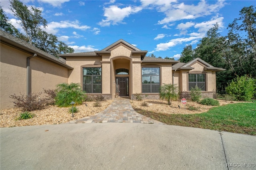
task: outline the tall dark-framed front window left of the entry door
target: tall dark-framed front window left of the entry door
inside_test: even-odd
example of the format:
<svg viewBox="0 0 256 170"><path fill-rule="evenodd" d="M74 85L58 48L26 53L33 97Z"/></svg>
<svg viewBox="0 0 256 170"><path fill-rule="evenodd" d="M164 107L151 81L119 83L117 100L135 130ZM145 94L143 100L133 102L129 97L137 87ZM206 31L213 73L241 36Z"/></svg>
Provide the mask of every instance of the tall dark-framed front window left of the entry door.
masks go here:
<svg viewBox="0 0 256 170"><path fill-rule="evenodd" d="M101 93L101 67L83 68L83 91Z"/></svg>

